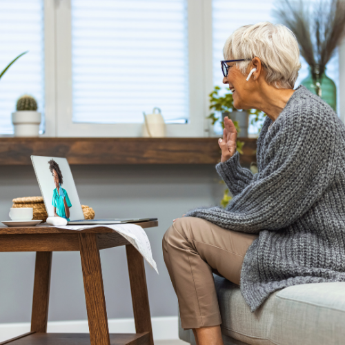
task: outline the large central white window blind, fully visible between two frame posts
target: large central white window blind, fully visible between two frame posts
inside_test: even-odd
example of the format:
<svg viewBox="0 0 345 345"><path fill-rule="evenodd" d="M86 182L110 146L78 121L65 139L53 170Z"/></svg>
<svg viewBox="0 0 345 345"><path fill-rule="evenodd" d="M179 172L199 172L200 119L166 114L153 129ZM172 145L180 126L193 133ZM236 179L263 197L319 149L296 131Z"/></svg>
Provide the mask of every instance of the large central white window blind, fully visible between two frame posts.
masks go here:
<svg viewBox="0 0 345 345"><path fill-rule="evenodd" d="M188 121L186 0L72 0L72 119Z"/></svg>

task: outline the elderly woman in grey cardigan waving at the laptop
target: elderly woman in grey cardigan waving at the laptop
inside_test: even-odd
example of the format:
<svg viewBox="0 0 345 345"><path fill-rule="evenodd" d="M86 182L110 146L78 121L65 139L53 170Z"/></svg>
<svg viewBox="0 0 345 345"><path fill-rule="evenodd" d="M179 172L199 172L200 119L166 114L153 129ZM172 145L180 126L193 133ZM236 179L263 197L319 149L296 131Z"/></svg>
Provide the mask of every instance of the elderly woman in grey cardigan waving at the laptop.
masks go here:
<svg viewBox="0 0 345 345"><path fill-rule="evenodd" d="M238 284L252 312L287 286L345 282L345 126L317 95L293 89L299 49L285 26L237 29L224 58L235 108L267 117L255 175L240 166L237 132L224 120L216 169L232 201L191 210L163 238L181 326L199 345L223 344L213 273Z"/></svg>

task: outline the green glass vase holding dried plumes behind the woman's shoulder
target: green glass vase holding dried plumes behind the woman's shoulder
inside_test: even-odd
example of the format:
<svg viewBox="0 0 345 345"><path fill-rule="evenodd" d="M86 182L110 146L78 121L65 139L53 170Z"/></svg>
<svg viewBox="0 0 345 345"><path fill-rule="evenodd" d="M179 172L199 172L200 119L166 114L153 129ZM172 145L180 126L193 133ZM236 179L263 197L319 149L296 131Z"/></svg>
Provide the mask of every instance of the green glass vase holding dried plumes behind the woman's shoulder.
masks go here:
<svg viewBox="0 0 345 345"><path fill-rule="evenodd" d="M337 111L337 87L335 86L334 81L331 78L326 76L326 68L325 72L319 77L318 74L316 83L313 80L311 74L311 67L309 66L309 75L302 81L302 85L304 85L308 90L313 92L315 95L319 95L326 103L328 103L333 110Z"/></svg>

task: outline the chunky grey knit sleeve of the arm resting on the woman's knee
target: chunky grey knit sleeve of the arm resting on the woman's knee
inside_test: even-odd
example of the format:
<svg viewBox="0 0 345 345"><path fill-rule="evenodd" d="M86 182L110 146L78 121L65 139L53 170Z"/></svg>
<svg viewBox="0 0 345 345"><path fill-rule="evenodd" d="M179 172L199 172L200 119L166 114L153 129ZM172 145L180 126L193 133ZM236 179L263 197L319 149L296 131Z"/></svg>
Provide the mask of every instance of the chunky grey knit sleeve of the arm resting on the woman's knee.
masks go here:
<svg viewBox="0 0 345 345"><path fill-rule="evenodd" d="M328 110L300 106L270 130L255 175L227 208L219 206L188 212L222 228L244 233L279 230L292 224L319 199L335 175L337 126ZM248 180L246 180L248 182Z"/></svg>

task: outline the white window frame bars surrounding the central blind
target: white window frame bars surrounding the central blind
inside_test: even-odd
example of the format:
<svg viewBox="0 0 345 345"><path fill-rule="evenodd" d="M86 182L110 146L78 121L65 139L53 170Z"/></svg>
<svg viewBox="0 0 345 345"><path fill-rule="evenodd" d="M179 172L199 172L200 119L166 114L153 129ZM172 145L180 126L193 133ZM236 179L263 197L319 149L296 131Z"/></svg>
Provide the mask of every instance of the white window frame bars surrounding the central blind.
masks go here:
<svg viewBox="0 0 345 345"><path fill-rule="evenodd" d="M72 122L71 0L44 0L46 130L43 137L141 137L142 124ZM201 34L200 34L201 33ZM339 47L340 119L345 122L345 41ZM189 121L167 124L167 137L209 137L213 90L212 0L188 0ZM221 83L221 81L219 81Z"/></svg>

